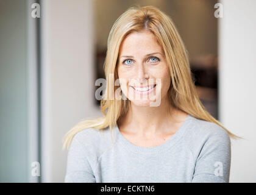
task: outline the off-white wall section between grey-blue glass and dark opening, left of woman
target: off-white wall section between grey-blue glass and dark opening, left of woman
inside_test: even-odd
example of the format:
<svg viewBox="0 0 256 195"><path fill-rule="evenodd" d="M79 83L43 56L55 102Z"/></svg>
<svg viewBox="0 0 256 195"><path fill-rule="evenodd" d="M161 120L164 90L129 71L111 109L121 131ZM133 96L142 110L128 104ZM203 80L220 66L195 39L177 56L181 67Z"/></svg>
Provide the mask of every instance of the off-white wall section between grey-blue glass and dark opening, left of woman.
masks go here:
<svg viewBox="0 0 256 195"><path fill-rule="evenodd" d="M42 1L42 182L64 181L64 134L100 115L93 91L92 10L91 0Z"/></svg>

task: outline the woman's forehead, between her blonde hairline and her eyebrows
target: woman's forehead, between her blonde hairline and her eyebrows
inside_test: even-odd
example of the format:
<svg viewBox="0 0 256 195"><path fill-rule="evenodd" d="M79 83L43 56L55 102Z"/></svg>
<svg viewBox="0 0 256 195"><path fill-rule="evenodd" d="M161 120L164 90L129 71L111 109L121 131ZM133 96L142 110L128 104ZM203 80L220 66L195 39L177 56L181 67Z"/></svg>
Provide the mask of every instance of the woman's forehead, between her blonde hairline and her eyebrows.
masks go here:
<svg viewBox="0 0 256 195"><path fill-rule="evenodd" d="M120 55L143 55L153 52L162 52L162 47L149 30L132 32L121 43Z"/></svg>

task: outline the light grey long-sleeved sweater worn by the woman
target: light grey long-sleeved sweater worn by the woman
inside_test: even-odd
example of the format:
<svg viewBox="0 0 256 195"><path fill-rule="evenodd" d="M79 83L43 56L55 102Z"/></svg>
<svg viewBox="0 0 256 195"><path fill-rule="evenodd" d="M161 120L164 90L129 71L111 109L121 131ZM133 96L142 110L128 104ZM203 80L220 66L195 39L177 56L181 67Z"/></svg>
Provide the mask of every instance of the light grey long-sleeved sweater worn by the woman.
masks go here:
<svg viewBox="0 0 256 195"><path fill-rule="evenodd" d="M119 132L84 129L69 147L65 182L229 182L230 137L188 115L160 146L141 147Z"/></svg>

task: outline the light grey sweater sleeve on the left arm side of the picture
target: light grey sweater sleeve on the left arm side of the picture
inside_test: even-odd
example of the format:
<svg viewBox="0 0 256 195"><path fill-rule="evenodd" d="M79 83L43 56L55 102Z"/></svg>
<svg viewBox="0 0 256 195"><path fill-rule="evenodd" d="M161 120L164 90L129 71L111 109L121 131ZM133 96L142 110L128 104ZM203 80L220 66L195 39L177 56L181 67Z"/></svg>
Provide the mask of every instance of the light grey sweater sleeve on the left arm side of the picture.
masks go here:
<svg viewBox="0 0 256 195"><path fill-rule="evenodd" d="M74 136L68 151L65 183L94 183L95 177L87 153L79 142L77 135Z"/></svg>

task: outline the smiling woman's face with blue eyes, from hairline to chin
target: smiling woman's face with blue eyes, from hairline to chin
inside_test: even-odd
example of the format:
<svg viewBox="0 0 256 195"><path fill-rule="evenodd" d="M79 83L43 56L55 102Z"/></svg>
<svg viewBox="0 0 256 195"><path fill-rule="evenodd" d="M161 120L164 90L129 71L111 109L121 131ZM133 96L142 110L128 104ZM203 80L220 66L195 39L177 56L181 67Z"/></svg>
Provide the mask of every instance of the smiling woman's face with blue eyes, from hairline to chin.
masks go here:
<svg viewBox="0 0 256 195"><path fill-rule="evenodd" d="M118 55L118 77L121 90L132 104L158 106L167 98L171 76L154 34L143 30L124 38Z"/></svg>

